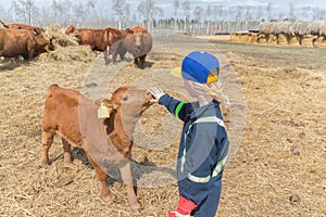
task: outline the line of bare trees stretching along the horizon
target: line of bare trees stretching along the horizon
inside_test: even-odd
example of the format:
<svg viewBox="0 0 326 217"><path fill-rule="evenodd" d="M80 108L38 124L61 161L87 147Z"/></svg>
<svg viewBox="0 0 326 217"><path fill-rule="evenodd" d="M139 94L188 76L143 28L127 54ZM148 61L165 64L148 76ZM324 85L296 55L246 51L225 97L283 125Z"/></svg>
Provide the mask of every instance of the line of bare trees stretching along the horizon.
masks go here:
<svg viewBox="0 0 326 217"><path fill-rule="evenodd" d="M289 3L288 13L277 12L272 2L258 9L237 5L226 9L222 4L192 5L189 0L174 0L172 17L166 17L154 0L139 1L137 7L128 0L112 0L103 7L102 1L51 0L38 5L36 0L14 0L9 9L0 8L0 20L5 23L25 23L47 27L125 28L141 25L155 33L187 33L211 35L258 28L262 21L299 21L300 17L325 20L326 11L312 7L296 8ZM106 2L106 1L105 1ZM254 10L254 11L253 11ZM275 15L277 14L277 15Z"/></svg>

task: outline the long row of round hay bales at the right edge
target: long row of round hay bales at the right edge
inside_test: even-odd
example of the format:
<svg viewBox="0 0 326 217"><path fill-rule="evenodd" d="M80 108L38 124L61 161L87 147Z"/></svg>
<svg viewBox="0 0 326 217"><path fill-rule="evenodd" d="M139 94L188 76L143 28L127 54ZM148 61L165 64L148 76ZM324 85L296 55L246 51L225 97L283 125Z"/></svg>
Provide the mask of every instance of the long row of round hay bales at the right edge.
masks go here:
<svg viewBox="0 0 326 217"><path fill-rule="evenodd" d="M250 33L235 33L231 40L251 43L286 43L298 46L309 41L311 47L321 47L326 41L326 21L313 22L263 22L259 29Z"/></svg>

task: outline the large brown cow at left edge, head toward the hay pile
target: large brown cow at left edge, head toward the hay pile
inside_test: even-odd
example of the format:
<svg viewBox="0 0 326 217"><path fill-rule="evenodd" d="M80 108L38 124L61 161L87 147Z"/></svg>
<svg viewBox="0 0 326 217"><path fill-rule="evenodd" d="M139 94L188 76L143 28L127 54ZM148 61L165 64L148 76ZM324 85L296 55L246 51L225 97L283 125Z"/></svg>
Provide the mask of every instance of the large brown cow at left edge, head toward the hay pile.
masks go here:
<svg viewBox="0 0 326 217"><path fill-rule="evenodd" d="M0 56L22 55L25 60L32 61L47 50L54 50L52 39L46 40L42 36L26 29L0 28Z"/></svg>

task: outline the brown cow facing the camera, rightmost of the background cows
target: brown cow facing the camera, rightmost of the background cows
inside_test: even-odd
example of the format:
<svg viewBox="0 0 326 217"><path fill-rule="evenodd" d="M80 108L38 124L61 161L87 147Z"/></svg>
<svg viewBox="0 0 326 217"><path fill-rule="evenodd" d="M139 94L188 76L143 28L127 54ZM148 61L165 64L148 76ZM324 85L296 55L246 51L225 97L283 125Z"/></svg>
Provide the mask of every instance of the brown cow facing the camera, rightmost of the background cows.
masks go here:
<svg viewBox="0 0 326 217"><path fill-rule="evenodd" d="M134 64L140 68L145 67L146 55L152 49L152 35L140 26L126 29L126 37L122 40L118 53L124 55L126 51L133 54Z"/></svg>

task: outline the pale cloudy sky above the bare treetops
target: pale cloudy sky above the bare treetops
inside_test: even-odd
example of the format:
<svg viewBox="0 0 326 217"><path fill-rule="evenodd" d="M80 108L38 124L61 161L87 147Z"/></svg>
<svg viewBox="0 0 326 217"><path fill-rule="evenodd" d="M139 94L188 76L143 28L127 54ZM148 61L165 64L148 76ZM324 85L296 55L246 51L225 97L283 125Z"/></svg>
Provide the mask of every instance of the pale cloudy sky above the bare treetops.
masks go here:
<svg viewBox="0 0 326 217"><path fill-rule="evenodd" d="M0 0L1 8L9 8L13 0ZM35 0L37 5L48 5L52 0ZM64 0L62 0L64 2ZM134 12L137 10L137 7L142 0L127 0L130 4L131 10ZM162 8L164 11L164 17L172 17L174 16L174 8L173 8L174 0L154 0L158 7ZM185 0L179 0L179 2L184 2ZM289 12L289 4L293 3L294 11L299 11L299 8L303 7L311 7L317 8L319 10L326 11L326 1L325 0L189 0L191 4L191 9L195 9L196 5L201 5L202 8L206 8L208 5L222 5L225 9L236 9L237 5L241 5L243 10L248 7L252 9L252 11L256 12L259 7L261 7L263 16L266 16L266 7L268 2L272 2L272 13L273 16L276 18L279 12L284 14L288 14ZM83 0L73 0L73 2L86 2ZM97 10L100 11L110 11L112 13L112 0L96 0L97 2ZM299 12L298 12L299 13ZM184 11L181 7L178 9L177 13L178 17L184 17ZM298 14L299 16L299 14ZM1 14L0 14L1 17ZM326 17L325 17L326 18Z"/></svg>

